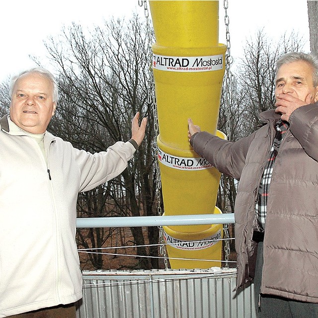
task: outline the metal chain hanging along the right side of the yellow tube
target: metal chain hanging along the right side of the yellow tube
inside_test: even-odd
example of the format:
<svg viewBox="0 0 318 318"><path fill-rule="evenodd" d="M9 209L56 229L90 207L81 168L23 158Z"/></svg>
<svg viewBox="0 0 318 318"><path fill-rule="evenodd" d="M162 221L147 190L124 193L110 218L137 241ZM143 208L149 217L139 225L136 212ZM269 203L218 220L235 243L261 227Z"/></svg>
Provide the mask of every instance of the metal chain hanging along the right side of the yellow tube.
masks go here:
<svg viewBox="0 0 318 318"><path fill-rule="evenodd" d="M228 8L229 8L229 1L224 0L223 1L223 7L225 10L225 16L224 16L224 23L225 23L225 29L226 29L226 41L227 41L227 51L225 53L225 77L223 81L223 89L225 92L225 101L227 104L227 121L226 121L226 133L228 136L228 139L230 139L231 136L231 101L232 101L232 82L233 82L233 74L231 72L231 64L233 63L233 58L231 56L231 37L230 37L230 31L229 31L229 24L230 19L228 16ZM224 177L224 187L225 187L225 193L224 193L224 213L229 213L229 197L230 197L230 183L229 179L226 175ZM223 231L224 231L224 238L225 240L225 246L224 246L224 252L225 252L225 266L229 267L229 258L230 258L230 233L229 233L229 224L223 225Z"/></svg>

